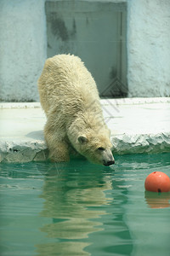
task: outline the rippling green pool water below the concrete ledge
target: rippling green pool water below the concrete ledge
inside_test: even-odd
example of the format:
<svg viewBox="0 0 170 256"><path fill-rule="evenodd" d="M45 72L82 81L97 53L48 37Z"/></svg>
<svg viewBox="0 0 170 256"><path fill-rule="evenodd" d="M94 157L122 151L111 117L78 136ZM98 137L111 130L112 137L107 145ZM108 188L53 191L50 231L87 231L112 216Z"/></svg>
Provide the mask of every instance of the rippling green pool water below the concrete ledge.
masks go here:
<svg viewBox="0 0 170 256"><path fill-rule="evenodd" d="M170 154L116 165L0 164L0 255L170 255L170 194L144 193Z"/></svg>

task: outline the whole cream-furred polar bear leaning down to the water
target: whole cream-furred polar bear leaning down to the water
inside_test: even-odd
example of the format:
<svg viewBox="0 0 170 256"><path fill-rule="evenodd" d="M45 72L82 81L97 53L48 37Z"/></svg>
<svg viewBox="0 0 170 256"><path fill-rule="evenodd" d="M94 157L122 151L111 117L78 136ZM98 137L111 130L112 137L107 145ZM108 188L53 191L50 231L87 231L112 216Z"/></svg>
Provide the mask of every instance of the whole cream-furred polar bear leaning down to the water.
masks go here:
<svg viewBox="0 0 170 256"><path fill-rule="evenodd" d="M44 137L50 160L68 161L71 152L76 151L96 164L115 163L99 92L79 57L48 58L38 79L38 90L47 116Z"/></svg>

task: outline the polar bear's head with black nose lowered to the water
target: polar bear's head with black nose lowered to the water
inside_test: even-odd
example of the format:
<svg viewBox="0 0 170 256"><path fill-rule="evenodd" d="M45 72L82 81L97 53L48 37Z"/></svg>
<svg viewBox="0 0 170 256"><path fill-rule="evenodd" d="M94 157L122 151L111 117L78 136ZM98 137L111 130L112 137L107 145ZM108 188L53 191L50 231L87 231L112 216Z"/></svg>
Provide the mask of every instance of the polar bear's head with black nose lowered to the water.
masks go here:
<svg viewBox="0 0 170 256"><path fill-rule="evenodd" d="M74 147L77 152L95 164L111 166L115 163L111 153L111 140L107 134L94 132L79 134Z"/></svg>

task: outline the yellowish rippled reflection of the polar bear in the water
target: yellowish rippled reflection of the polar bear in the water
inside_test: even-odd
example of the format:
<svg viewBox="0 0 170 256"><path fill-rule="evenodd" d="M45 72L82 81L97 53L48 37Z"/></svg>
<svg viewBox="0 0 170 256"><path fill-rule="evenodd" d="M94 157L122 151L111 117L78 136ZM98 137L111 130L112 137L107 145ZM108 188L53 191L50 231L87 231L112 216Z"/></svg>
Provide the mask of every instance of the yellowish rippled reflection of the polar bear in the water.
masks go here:
<svg viewBox="0 0 170 256"><path fill-rule="evenodd" d="M45 200L41 216L52 218L52 223L41 231L55 241L37 245L38 255L90 255L84 251L90 243L83 239L103 230L99 218L107 213L100 209L111 203L105 196L105 190L112 189L111 175L104 176L103 167L81 163L83 166L49 166L41 195Z"/></svg>

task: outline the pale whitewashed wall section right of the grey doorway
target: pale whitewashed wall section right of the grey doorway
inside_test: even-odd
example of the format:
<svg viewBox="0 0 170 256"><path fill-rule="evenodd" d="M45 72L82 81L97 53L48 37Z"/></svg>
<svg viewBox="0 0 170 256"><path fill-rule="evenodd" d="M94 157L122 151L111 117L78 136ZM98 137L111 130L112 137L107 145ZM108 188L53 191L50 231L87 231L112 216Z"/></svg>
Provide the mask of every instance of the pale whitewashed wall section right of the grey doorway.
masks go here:
<svg viewBox="0 0 170 256"><path fill-rule="evenodd" d="M170 96L170 1L128 1L129 96Z"/></svg>

